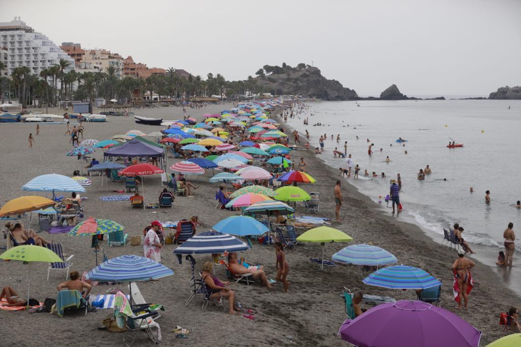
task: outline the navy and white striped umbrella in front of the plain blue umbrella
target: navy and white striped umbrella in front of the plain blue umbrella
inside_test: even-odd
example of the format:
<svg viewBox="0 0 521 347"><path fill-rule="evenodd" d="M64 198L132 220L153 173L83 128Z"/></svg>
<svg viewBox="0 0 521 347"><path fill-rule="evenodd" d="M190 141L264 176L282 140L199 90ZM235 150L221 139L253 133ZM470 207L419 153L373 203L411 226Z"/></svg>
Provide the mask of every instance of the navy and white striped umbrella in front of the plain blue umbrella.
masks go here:
<svg viewBox="0 0 521 347"><path fill-rule="evenodd" d="M206 234L206 235L204 235ZM245 242L229 234L204 233L192 236L173 251L174 254L240 252L249 249Z"/></svg>

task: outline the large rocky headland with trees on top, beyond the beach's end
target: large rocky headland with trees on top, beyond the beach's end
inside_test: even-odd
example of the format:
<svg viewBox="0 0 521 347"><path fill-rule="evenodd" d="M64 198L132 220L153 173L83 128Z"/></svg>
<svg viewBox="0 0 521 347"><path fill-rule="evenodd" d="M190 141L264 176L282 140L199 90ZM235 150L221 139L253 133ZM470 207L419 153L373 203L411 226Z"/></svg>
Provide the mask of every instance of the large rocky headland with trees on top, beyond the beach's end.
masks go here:
<svg viewBox="0 0 521 347"><path fill-rule="evenodd" d="M273 95L302 95L324 100L358 100L355 91L345 88L336 80L328 80L318 68L300 63L292 68L286 63L265 65L256 72L255 84Z"/></svg>

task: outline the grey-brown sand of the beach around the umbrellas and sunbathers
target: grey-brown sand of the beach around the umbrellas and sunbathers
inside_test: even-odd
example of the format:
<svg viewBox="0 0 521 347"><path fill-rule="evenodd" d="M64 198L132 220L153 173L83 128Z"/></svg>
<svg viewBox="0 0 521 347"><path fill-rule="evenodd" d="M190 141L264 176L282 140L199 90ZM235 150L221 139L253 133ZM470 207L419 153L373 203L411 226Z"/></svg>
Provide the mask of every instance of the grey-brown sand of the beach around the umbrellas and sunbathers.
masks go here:
<svg viewBox="0 0 521 347"><path fill-rule="evenodd" d="M219 113L222 109L233 107L231 104L209 105L195 110L187 109L187 114L197 120L204 113ZM49 113L53 110L49 109ZM60 111L59 114L63 114ZM163 117L165 120L182 118L181 108L169 107L158 109L138 109L136 115L145 117ZM283 124L284 125L284 124ZM137 129L145 133L159 131L162 127L140 125L132 117L111 117L106 123L85 123L84 139L98 140L110 138L116 134L124 134ZM76 157L67 157L65 153L72 148L69 136L64 136L65 124L41 124L40 135L35 135L35 124L0 124L0 146L2 153L2 185L0 186L0 202L17 198L21 195L43 195L39 192L23 192L21 186L35 176L46 173L58 173L71 176L73 171L86 165ZM287 133L291 130L288 128ZM28 149L28 136L33 133L34 148ZM81 139L80 139L81 141ZM101 150L92 157L102 161ZM338 179L338 170L333 170L320 160L320 155L305 151L304 146L292 153L292 160L304 158L307 162L307 172L316 178L316 184L303 184L301 187L308 192L320 192L320 212L318 216L334 219L333 187ZM169 159L172 162L178 161ZM85 170L83 170L84 173ZM194 197L177 197L173 209L142 210L130 209L128 201L104 202L100 197L116 194L113 190L122 189L123 184L108 183L101 186L101 177L93 176L93 185L86 188L82 194L88 197L84 203L85 216L114 220L126 227L129 236L142 235L143 227L153 220L177 221L199 216L200 226L197 232L210 229L218 221L238 212L216 210L214 200L217 184L208 183L211 171L197 178L189 178L198 187ZM156 202L162 190L160 176L145 176L145 200ZM441 306L456 312L468 323L483 332L480 345L486 345L504 334L498 325L499 313L511 306L521 306L521 299L511 290L505 288L503 282L488 266L477 263L473 269L475 286L470 294L469 309L457 310L453 300L451 265L457 258L454 251L440 247L412 224L407 224L382 214L375 208L370 199L359 193L350 184L342 182L344 197L341 209L341 223L333 222L337 228L353 237L354 243L373 243L382 247L398 258L399 263L425 269L443 282ZM67 194L67 193L66 193ZM151 213L155 212L155 213ZM297 214L306 215L304 206L297 204ZM34 221L34 219L33 219ZM24 220L26 222L26 220ZM33 226L35 223L33 222ZM302 232L302 231L301 231ZM63 244L67 255L74 254L72 269L80 274L95 266L94 253L90 248L90 238L71 237L67 234L41 234L53 243ZM3 240L5 243L5 240ZM348 243L328 243L326 256L337 252ZM143 246L108 247L102 245L109 258L122 254L143 256ZM284 293L281 284L269 291L256 284L246 286L232 284L237 292L237 299L246 308L254 311L255 320L241 316L230 316L222 313L215 306L208 306L202 312L203 300L196 297L188 307L185 301L189 297L190 264L183 260L178 263L172 254L175 245L166 245L162 251L162 263L175 271L175 275L158 281L139 282L138 286L147 302L160 303L165 311L157 320L162 329L162 345L303 345L332 346L345 345L337 332L346 318L344 303L338 293L343 287L357 291L362 289L362 271L355 266L340 264L338 268L321 271L316 263L309 258L321 254L317 244L297 245L295 250L286 250L286 259L291 266L288 280L289 293ZM276 277L276 255L272 246L255 244L244 253L246 261L263 264L269 278ZM210 257L196 255L196 268ZM101 256L100 256L101 259ZM33 263L31 266L31 297L43 301L45 298L56 298L56 286L65 279L65 272L52 272L47 281L45 272L47 264ZM512 269L516 271L516 268ZM217 267L216 275L220 279L226 277L225 268ZM10 285L20 295L27 294L28 266L21 262L0 262L0 286ZM127 284L111 287L127 291ZM93 287L91 296L104 293L109 286ZM415 300L414 291L392 291L379 287L366 286L367 294L385 295L397 300ZM365 308L370 308L364 305ZM0 310L0 320L5 331L6 345L33 346L54 342L55 345L120 345L123 333L99 331L96 325L113 310L98 310L86 316L75 315L60 318L47 313L29 314L26 311L10 312ZM187 340L178 340L170 330L175 326L190 329ZM138 335L136 345L147 345L150 341L144 334Z"/></svg>

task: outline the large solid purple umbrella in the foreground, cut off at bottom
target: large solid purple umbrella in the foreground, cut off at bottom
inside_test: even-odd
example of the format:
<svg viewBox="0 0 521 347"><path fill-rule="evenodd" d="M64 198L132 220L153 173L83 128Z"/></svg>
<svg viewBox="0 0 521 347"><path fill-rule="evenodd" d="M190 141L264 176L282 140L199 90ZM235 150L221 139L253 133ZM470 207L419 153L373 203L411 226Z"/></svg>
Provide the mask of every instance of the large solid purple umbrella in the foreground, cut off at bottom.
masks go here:
<svg viewBox="0 0 521 347"><path fill-rule="evenodd" d="M440 307L400 300L346 320L339 335L357 347L477 347L481 331Z"/></svg>

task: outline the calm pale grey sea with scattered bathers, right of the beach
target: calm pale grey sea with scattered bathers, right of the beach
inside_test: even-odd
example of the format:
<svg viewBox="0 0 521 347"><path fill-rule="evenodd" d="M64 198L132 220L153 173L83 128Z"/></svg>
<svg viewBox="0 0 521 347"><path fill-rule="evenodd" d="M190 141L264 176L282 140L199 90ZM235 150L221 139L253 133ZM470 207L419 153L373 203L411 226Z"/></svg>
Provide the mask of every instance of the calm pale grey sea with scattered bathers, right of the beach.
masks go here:
<svg viewBox="0 0 521 347"><path fill-rule="evenodd" d="M375 203L378 196L389 194L389 179L400 173L400 200L404 208L400 219L418 224L437 241L443 238L443 227L459 223L465 228L464 238L478 253L475 258L495 267L498 251L504 250L503 230L508 222L514 223L514 231L521 237L521 209L515 208L516 201L521 200L521 100L359 104L360 107L356 107L355 101L310 103L311 109L297 114L288 124L299 130L303 145L305 130L309 131L310 148L319 146L318 138L326 133L325 151L320 156L334 168L347 168L345 159L333 158L334 148L343 152L347 141L348 154L352 154L354 165L361 167L361 179L350 178L349 182ZM303 124L305 117L309 118L307 126ZM317 122L325 126L313 126ZM338 134L340 143L336 141ZM407 139L405 147L395 142L399 137ZM367 155L367 138L375 144L372 157ZM447 148L450 138L464 147ZM390 163L385 162L386 156ZM425 181L418 181L419 169L427 164L432 174ZM388 177L362 179L365 169L369 173L384 172ZM470 187L474 188L472 194ZM485 203L486 190L491 192L490 204ZM391 213L385 202L381 209ZM518 292L520 246L517 242L514 268L497 269Z"/></svg>

